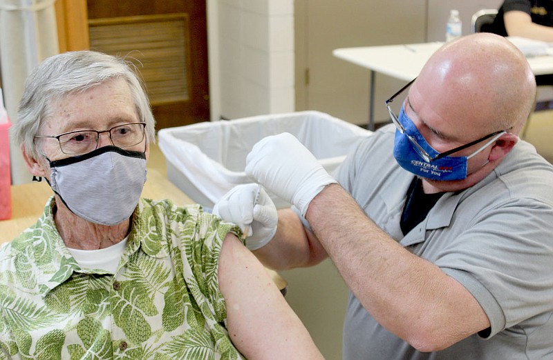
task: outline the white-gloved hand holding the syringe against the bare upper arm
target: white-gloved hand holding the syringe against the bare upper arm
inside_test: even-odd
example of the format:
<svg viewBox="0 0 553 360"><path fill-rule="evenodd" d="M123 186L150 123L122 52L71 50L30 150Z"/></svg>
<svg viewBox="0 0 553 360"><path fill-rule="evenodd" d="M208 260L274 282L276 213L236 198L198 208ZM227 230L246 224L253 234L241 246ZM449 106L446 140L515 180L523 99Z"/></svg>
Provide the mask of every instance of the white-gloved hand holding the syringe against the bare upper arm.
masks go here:
<svg viewBox="0 0 553 360"><path fill-rule="evenodd" d="M244 232L246 247L250 250L265 246L277 232L277 207L256 183L232 188L217 201L213 213L225 221L236 223Z"/></svg>

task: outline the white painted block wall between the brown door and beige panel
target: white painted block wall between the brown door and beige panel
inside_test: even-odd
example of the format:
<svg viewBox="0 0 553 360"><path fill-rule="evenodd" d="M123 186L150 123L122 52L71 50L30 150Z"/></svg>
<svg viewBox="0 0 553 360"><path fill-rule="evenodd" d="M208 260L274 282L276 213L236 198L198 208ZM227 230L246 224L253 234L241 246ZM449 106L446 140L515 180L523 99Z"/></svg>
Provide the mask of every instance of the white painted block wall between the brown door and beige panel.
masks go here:
<svg viewBox="0 0 553 360"><path fill-rule="evenodd" d="M294 111L293 0L221 0L213 118ZM209 17L209 14L208 14ZM210 37L212 39L212 37Z"/></svg>

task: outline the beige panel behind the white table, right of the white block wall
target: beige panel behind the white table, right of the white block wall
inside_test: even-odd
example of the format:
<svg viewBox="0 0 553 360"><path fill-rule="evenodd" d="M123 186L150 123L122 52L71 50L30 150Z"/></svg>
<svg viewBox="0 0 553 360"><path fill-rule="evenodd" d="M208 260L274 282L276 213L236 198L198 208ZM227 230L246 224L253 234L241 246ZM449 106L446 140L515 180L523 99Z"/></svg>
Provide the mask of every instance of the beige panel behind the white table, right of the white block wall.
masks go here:
<svg viewBox="0 0 553 360"><path fill-rule="evenodd" d="M296 0L294 10L297 110L319 110L366 125L370 72L333 57L332 50L424 42L427 0ZM377 123L390 120L384 101L403 85L376 75Z"/></svg>

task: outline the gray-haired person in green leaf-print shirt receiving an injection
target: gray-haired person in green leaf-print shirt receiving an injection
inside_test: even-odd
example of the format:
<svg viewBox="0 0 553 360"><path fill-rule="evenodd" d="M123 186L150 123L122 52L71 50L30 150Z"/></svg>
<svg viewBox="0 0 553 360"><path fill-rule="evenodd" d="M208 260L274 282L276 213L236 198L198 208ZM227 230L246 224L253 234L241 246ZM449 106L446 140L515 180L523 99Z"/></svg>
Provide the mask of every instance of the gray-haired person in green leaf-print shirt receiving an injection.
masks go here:
<svg viewBox="0 0 553 360"><path fill-rule="evenodd" d="M15 138L54 196L0 250L0 359L321 359L236 226L140 199L154 120L128 63L46 59Z"/></svg>

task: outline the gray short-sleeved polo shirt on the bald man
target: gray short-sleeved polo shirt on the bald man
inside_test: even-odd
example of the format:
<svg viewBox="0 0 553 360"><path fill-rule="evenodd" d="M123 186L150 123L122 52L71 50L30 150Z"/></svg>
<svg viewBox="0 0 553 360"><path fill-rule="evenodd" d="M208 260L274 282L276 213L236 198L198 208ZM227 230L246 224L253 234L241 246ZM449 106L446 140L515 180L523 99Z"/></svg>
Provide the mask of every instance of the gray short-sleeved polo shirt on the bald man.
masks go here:
<svg viewBox="0 0 553 360"><path fill-rule="evenodd" d="M444 194L404 236L400 217L413 174L393 158L394 133L386 126L366 139L337 179L404 248L462 283L491 331L440 352L418 352L350 294L344 359L553 359L553 166L519 141L488 177Z"/></svg>

